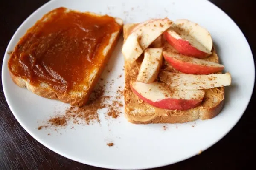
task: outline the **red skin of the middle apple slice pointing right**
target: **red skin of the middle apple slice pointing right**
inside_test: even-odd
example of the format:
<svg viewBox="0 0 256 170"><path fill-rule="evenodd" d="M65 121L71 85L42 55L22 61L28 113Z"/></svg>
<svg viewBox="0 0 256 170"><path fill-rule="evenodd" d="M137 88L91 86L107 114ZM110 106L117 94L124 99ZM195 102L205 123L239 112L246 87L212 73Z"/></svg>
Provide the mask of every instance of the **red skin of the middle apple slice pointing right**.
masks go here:
<svg viewBox="0 0 256 170"><path fill-rule="evenodd" d="M212 73L217 73L219 71L222 71L224 69L224 67L211 67L207 65L199 65L199 64L181 61L173 57L169 57L166 53L163 53L163 57L177 71L180 71L186 74L212 74Z"/></svg>

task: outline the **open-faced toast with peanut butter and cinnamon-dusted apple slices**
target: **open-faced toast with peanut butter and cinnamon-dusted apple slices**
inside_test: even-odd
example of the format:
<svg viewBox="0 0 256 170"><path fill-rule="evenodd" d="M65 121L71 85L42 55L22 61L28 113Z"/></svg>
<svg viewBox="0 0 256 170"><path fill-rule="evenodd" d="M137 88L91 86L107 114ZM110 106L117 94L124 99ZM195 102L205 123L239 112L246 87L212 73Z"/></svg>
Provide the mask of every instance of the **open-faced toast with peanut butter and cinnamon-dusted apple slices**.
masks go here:
<svg viewBox="0 0 256 170"><path fill-rule="evenodd" d="M137 124L211 119L224 105L229 73L207 29L168 18L123 26L125 116Z"/></svg>

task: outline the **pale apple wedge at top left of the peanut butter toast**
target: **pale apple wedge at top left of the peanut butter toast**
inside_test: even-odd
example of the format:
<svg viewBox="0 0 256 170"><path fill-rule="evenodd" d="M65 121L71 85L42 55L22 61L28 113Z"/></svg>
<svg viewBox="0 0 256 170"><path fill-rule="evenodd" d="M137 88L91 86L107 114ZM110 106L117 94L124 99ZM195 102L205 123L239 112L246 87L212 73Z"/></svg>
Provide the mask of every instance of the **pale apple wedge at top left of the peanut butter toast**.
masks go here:
<svg viewBox="0 0 256 170"><path fill-rule="evenodd" d="M131 34L127 37L127 40L129 39L129 37L132 37L131 40L125 40L122 47L122 54L125 55L125 58L127 60L133 62L138 57L140 57L143 51L148 48L148 46L151 45L151 43L154 42L157 37L163 34L163 32L166 31L171 25L172 21L168 18L148 20L144 23L140 23L131 31ZM129 48L130 46L132 46L133 48ZM139 47L142 50L133 52L134 49L138 49Z"/></svg>

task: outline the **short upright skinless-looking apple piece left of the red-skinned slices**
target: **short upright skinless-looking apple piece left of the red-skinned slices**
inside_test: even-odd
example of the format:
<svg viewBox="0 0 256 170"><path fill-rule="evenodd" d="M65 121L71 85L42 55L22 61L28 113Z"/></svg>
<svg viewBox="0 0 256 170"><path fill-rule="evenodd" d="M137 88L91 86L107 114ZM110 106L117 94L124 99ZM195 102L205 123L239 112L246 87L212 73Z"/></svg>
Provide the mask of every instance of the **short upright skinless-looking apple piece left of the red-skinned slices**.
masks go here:
<svg viewBox="0 0 256 170"><path fill-rule="evenodd" d="M140 65L137 81L151 83L156 78L163 63L163 48L147 48Z"/></svg>

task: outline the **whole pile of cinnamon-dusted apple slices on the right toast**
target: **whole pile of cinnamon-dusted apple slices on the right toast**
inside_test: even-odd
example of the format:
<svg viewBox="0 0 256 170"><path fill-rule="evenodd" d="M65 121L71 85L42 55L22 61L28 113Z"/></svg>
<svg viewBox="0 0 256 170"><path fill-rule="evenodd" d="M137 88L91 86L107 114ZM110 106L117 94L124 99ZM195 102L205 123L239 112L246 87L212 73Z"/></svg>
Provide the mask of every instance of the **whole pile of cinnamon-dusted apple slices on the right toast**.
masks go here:
<svg viewBox="0 0 256 170"><path fill-rule="evenodd" d="M167 45L162 46L162 35ZM154 48L149 48L150 45ZM130 84L131 90L157 108L197 107L204 99L204 89L231 84L229 73L219 73L224 65L204 60L212 54L212 46L209 32L189 20L173 23L165 18L137 25L122 48L125 62L132 63L144 53L137 80ZM160 71L163 58L179 73Z"/></svg>

